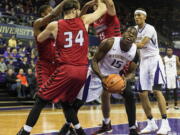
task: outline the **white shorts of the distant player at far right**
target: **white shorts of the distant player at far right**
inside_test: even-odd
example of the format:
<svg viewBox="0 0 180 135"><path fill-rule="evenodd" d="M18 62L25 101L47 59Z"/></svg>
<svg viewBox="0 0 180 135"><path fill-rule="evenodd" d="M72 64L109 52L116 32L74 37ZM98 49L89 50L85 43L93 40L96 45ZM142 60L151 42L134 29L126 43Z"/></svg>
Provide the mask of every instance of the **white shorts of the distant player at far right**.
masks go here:
<svg viewBox="0 0 180 135"><path fill-rule="evenodd" d="M167 80L167 88L168 89L176 88L176 75L167 75L166 74L166 80Z"/></svg>

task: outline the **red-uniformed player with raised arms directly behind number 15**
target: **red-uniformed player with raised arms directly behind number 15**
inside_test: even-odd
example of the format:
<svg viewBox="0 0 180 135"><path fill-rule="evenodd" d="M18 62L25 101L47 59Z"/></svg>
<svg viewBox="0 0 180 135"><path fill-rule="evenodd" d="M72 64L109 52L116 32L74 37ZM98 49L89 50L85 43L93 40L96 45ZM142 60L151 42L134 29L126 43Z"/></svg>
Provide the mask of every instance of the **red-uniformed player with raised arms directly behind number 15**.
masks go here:
<svg viewBox="0 0 180 135"><path fill-rule="evenodd" d="M103 41L106 38L110 37L120 37L120 22L116 15L116 9L113 0L103 0L107 6L107 12L100 19L95 21L92 26L96 30L97 35L99 36L100 41ZM96 9L96 5L93 2L87 3L84 8L82 8L81 14L86 13L89 7L93 6L93 9ZM103 91L101 96L102 100L102 113L103 121L102 127L98 129L95 133L104 133L107 131L112 131L111 120L110 120L110 97L111 94L107 91Z"/></svg>

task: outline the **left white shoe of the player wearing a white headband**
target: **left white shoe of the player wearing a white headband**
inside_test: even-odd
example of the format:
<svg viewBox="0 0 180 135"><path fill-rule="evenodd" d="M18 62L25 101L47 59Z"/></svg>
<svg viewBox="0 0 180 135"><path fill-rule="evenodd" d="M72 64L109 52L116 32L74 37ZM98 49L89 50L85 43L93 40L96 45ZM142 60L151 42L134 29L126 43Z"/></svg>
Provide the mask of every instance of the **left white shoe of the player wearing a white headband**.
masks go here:
<svg viewBox="0 0 180 135"><path fill-rule="evenodd" d="M151 120L147 120L147 126L141 130L141 134L146 134L146 133L151 133L151 132L154 132L158 129L158 126L156 125L156 122L154 119L151 119Z"/></svg>

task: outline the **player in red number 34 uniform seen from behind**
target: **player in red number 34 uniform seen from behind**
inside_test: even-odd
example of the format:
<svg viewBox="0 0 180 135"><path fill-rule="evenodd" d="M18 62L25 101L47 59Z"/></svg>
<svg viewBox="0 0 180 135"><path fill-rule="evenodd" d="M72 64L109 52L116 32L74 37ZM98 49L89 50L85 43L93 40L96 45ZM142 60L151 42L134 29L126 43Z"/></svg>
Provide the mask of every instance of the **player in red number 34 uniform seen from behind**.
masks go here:
<svg viewBox="0 0 180 135"><path fill-rule="evenodd" d="M82 17L79 17L80 4L77 0L65 0L62 9L64 19L48 24L37 37L40 43L49 38L55 40L58 66L37 93L34 113L30 113L28 117L34 124L48 101L57 103L61 100L65 104L71 104L76 99L87 74L88 26L106 12L106 7L100 0L95 12ZM23 135L29 135L31 129L32 127ZM81 127L76 132L78 135L85 134Z"/></svg>

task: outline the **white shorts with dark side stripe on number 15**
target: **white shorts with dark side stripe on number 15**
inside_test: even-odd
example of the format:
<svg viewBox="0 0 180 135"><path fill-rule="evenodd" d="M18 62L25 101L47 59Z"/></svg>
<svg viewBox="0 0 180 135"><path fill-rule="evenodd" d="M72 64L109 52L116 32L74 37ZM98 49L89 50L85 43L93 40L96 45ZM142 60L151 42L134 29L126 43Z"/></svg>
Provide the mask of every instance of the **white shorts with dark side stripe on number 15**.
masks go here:
<svg viewBox="0 0 180 135"><path fill-rule="evenodd" d="M93 73L91 68L88 70L87 80L81 88L77 99L84 102L91 102L98 99L103 91L101 80Z"/></svg>

